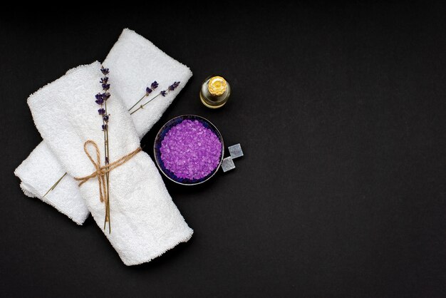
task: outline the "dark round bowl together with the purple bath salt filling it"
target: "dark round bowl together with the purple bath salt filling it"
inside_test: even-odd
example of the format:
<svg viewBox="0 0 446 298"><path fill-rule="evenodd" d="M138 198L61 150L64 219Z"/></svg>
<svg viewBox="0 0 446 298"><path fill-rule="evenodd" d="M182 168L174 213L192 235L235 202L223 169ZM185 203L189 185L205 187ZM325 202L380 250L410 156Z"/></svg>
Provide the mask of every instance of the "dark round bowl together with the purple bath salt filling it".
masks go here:
<svg viewBox="0 0 446 298"><path fill-rule="evenodd" d="M211 178L222 164L219 130L197 115L181 115L162 126L155 138L155 161L170 180L196 185Z"/></svg>

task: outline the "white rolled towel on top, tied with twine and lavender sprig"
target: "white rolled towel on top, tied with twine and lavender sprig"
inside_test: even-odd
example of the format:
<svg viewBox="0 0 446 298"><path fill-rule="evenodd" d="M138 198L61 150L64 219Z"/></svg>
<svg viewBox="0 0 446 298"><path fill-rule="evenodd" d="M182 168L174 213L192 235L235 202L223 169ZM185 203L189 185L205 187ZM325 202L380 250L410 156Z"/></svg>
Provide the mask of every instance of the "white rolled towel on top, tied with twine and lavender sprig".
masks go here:
<svg viewBox="0 0 446 298"><path fill-rule="evenodd" d="M103 131L95 93L100 63L79 66L33 93L28 98L34 123L46 145L73 177L93 173L94 167L83 150L86 140L98 144L101 160ZM110 83L113 80L110 77ZM140 138L113 85L107 106L110 113L110 162L140 146ZM95 157L95 150L90 153ZM79 187L95 222L103 230L105 204L99 200L98 179ZM110 218L112 232L105 232L110 243L127 265L149 262L192 236L167 192L160 174L147 153L140 152L110 173Z"/></svg>

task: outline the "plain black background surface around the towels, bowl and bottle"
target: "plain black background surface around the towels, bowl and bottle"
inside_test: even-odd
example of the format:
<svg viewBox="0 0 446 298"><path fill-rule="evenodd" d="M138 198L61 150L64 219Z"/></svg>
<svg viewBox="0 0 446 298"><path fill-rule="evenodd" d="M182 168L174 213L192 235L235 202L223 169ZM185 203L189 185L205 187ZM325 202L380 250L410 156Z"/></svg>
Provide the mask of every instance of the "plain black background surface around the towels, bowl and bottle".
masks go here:
<svg viewBox="0 0 446 298"><path fill-rule="evenodd" d="M0 296L446 296L445 6L64 11L0 21ZM13 174L41 141L28 95L102 61L125 27L194 73L145 150L195 113L245 153L200 187L166 181L195 234L135 267ZM218 111L198 97L211 74L232 85Z"/></svg>

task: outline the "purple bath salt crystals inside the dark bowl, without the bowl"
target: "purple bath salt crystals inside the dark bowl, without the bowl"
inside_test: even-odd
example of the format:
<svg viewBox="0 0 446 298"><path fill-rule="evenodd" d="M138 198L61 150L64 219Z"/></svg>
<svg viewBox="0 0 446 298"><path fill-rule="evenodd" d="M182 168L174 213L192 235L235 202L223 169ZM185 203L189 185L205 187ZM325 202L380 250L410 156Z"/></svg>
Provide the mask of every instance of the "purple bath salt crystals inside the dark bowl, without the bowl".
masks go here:
<svg viewBox="0 0 446 298"><path fill-rule="evenodd" d="M160 153L165 168L178 178L201 179L219 165L222 143L199 120L183 120L165 134Z"/></svg>

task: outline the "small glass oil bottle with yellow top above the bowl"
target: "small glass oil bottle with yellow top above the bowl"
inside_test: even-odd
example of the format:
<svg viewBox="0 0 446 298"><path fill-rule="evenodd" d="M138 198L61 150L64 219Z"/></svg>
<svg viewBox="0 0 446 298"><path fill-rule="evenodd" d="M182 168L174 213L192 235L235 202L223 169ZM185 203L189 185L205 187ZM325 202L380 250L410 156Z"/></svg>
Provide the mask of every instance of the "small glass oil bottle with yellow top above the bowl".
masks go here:
<svg viewBox="0 0 446 298"><path fill-rule="evenodd" d="M221 76L209 76L202 83L199 98L208 108L220 108L231 95L231 86Z"/></svg>

